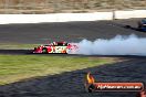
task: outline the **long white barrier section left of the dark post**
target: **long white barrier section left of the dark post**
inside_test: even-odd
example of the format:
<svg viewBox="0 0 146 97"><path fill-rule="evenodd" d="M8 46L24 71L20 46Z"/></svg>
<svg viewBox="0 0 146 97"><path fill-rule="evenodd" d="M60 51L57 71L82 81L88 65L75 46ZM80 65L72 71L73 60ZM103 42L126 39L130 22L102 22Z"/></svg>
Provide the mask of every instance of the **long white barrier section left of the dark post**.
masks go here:
<svg viewBox="0 0 146 97"><path fill-rule="evenodd" d="M112 20L112 12L0 14L0 24Z"/></svg>

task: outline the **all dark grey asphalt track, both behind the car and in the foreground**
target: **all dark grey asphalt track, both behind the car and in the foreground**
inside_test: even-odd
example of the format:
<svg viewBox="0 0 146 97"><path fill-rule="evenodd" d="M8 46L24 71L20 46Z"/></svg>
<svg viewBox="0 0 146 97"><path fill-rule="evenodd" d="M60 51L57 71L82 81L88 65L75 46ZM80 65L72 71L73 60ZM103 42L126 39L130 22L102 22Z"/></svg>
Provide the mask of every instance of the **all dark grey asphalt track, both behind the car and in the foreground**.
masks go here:
<svg viewBox="0 0 146 97"><path fill-rule="evenodd" d="M83 39L91 41L95 39L112 39L117 34L136 34L139 37L146 37L145 32L136 29L138 20L0 25L0 43L80 42ZM126 28L126 25L132 28ZM0 50L0 54L30 54L29 52L30 50ZM62 57L67 56L60 55ZM94 55L85 57L118 57L124 61L0 86L0 97L136 97L136 93L86 93L83 84L84 76L88 71L94 74L97 82L146 83L145 56Z"/></svg>

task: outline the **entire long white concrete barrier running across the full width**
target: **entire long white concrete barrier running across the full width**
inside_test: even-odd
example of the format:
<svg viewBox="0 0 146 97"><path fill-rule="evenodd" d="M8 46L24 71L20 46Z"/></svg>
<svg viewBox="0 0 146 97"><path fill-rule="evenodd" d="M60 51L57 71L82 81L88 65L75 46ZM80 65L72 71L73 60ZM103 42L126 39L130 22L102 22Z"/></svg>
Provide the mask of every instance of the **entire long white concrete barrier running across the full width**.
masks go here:
<svg viewBox="0 0 146 97"><path fill-rule="evenodd" d="M146 18L146 10L94 12L94 13L50 13L50 14L0 14L0 24L43 23L71 21L98 21L114 19Z"/></svg>

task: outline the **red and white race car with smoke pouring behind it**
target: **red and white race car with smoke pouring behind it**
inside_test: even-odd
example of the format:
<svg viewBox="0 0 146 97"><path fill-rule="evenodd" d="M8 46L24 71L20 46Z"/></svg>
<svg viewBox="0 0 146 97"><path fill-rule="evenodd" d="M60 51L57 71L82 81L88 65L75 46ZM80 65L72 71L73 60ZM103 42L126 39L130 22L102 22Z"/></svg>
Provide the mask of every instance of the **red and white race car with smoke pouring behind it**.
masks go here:
<svg viewBox="0 0 146 97"><path fill-rule="evenodd" d="M38 47L34 47L33 53L61 53L61 54L67 54L70 52L73 52L76 50L77 46L72 43L66 42L53 42L48 45L40 45Z"/></svg>

